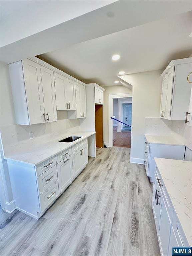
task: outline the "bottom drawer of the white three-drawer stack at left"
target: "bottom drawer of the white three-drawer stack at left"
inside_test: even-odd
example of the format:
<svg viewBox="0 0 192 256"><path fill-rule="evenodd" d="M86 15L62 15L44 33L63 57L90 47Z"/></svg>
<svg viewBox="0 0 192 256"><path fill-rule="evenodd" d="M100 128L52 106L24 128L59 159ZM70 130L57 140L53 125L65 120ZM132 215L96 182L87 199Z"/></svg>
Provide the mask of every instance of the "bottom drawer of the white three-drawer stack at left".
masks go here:
<svg viewBox="0 0 192 256"><path fill-rule="evenodd" d="M51 205L54 199L59 195L58 181L53 183L48 189L46 189L40 196L40 208L41 213Z"/></svg>

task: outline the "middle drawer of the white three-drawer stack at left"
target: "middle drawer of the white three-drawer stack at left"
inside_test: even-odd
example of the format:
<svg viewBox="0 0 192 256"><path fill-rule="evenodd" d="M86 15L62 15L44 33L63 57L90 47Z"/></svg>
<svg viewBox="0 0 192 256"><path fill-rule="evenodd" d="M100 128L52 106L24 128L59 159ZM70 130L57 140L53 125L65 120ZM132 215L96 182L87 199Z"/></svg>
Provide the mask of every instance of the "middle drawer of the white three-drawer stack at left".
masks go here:
<svg viewBox="0 0 192 256"><path fill-rule="evenodd" d="M51 167L49 170L37 177L38 193L41 195L57 180L57 166Z"/></svg>

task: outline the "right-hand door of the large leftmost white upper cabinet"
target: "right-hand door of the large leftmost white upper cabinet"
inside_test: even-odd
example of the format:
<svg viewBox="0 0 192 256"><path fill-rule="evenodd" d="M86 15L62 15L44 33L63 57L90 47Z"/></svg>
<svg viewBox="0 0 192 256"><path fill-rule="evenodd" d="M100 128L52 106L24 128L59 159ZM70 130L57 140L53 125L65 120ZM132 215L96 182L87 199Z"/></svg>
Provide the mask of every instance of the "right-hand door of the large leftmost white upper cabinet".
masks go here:
<svg viewBox="0 0 192 256"><path fill-rule="evenodd" d="M57 121L55 84L53 71L41 66L41 79L46 122Z"/></svg>

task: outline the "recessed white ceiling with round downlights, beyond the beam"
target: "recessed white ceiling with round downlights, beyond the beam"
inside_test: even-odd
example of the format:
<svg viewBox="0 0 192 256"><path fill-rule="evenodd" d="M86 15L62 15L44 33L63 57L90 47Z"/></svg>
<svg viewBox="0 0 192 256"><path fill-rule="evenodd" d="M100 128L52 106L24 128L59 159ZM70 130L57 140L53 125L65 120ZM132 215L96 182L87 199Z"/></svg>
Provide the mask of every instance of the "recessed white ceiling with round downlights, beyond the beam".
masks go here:
<svg viewBox="0 0 192 256"><path fill-rule="evenodd" d="M117 85L125 74L164 69L172 59L192 53L192 11L82 42L39 57L79 80ZM120 54L119 61L112 61Z"/></svg>

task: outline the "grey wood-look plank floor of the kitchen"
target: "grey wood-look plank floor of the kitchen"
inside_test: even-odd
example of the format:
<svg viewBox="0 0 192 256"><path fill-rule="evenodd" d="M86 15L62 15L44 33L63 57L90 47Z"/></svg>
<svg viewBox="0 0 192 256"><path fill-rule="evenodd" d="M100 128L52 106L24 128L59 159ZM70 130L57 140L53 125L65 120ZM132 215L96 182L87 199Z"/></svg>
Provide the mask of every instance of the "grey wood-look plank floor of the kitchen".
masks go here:
<svg viewBox="0 0 192 256"><path fill-rule="evenodd" d="M98 148L39 220L0 210L0 255L160 256L152 184L129 161L129 148Z"/></svg>

